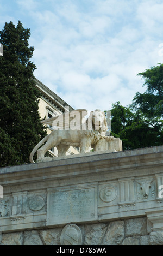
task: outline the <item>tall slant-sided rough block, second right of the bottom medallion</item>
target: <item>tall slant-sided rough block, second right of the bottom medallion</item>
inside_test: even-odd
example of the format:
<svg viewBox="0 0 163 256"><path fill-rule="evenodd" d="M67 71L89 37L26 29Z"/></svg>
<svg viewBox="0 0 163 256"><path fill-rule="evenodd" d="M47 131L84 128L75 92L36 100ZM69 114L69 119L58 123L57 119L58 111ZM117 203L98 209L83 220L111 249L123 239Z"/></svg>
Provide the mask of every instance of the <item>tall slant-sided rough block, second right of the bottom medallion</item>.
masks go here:
<svg viewBox="0 0 163 256"><path fill-rule="evenodd" d="M115 221L109 224L103 245L121 245L124 239L124 221Z"/></svg>

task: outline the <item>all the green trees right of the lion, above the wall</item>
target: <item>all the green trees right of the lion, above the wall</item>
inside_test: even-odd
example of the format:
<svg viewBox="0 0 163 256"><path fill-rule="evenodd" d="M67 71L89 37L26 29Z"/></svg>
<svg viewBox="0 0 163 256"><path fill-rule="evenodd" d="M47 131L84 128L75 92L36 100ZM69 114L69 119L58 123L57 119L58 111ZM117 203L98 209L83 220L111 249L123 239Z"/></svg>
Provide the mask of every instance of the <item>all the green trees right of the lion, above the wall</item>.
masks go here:
<svg viewBox="0 0 163 256"><path fill-rule="evenodd" d="M163 145L163 64L139 73L147 86L125 108L112 104L111 135L120 138L123 150Z"/></svg>

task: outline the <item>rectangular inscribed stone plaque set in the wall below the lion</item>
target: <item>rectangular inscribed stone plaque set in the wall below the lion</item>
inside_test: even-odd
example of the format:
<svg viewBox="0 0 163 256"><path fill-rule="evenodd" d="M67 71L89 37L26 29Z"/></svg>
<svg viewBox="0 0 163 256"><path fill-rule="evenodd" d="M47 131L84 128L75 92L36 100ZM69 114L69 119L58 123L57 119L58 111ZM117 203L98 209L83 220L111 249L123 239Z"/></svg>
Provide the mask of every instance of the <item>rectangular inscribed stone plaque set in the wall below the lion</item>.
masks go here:
<svg viewBox="0 0 163 256"><path fill-rule="evenodd" d="M95 221L96 219L96 186L48 190L47 225Z"/></svg>

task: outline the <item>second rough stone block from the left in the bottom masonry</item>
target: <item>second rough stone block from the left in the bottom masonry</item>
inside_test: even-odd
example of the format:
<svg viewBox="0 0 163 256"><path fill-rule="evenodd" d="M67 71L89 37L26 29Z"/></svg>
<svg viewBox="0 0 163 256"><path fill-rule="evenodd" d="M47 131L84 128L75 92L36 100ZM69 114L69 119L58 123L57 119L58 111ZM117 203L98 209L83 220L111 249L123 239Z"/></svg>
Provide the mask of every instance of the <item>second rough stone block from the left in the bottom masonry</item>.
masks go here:
<svg viewBox="0 0 163 256"><path fill-rule="evenodd" d="M31 230L31 231L24 231L24 245L43 245L39 231Z"/></svg>

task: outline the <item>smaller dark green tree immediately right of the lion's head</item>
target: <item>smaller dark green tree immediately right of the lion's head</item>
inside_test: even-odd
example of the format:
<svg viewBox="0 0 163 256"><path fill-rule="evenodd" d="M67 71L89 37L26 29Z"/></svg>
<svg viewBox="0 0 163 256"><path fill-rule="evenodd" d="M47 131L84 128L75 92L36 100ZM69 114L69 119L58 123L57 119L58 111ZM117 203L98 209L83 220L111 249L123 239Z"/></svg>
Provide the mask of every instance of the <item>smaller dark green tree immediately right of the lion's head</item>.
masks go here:
<svg viewBox="0 0 163 256"><path fill-rule="evenodd" d="M112 104L111 117L110 135L122 140L123 150L149 147L153 144L152 128L145 122L140 111L131 112L117 102Z"/></svg>

